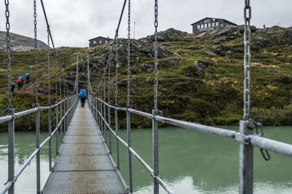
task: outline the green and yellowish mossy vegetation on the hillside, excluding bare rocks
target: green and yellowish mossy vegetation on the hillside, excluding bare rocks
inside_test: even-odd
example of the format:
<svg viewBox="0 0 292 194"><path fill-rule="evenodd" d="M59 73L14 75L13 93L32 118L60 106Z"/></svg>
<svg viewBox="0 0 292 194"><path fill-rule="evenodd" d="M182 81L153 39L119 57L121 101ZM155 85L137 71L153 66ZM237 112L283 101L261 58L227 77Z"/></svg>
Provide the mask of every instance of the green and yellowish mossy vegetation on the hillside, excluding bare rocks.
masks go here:
<svg viewBox="0 0 292 194"><path fill-rule="evenodd" d="M267 34L261 34L269 38ZM253 38L253 37L252 37ZM199 38L194 35L187 36L181 42L171 42L169 51L178 57L176 66L168 64L173 57L159 59L158 66L158 109L162 110L164 116L181 119L185 121L198 122L203 124L215 125L238 125L243 115L243 37L224 42L221 46L229 46L234 48L235 52L230 58L216 55L210 58L206 55L207 50L212 50L212 41L205 41L205 38ZM165 42L159 43L163 46ZM201 47L197 50L190 50L190 46ZM66 48L66 52L70 51L72 57L76 58L77 52L88 52L88 48ZM257 115L261 110L286 110L292 101L292 48L286 47L285 43L272 44L264 48L252 47L252 70L251 70L251 107L253 107L253 117L259 118ZM38 51L38 75L41 77L39 82L39 90L41 91L41 105L48 103L45 94L47 91L47 52L45 50ZM6 54L0 53L0 99L1 108L6 109L7 100L7 65ZM52 93L55 93L54 78L54 59L51 53L51 85ZM139 57L139 61L131 64L131 88L130 103L137 110L152 112L154 106L154 74L151 72L139 70L145 63L153 63L154 58L140 57L138 53L132 52L131 59ZM29 71L31 73L31 84L34 83L34 51L29 52L13 52L11 54L12 64L12 80L16 82L19 75L24 75ZM203 61L208 65L204 72L204 77L186 77L184 74L194 70L194 61ZM71 64L71 65L74 65ZM67 75L71 72L63 70ZM115 72L111 70L111 89L110 102L114 104L114 83ZM118 81L125 83L127 79L127 64L119 69ZM138 74L137 74L138 73ZM219 75L219 77L215 77ZM98 75L97 75L98 76ZM102 76L102 75L100 75ZM108 76L108 75L106 75ZM98 86L98 82L91 82L93 90ZM106 83L107 84L107 83ZM118 104L126 105L126 84L120 84L118 88ZM24 90L34 91L34 88L24 87ZM17 91L17 89L16 89ZM103 90L102 90L103 91ZM106 88L106 99L107 99ZM52 100L53 102L55 99ZM13 94L13 106L15 112L25 110L31 107L35 102L34 94L15 92ZM271 111L270 111L271 112ZM284 115L284 114L283 114ZM286 115L286 114L285 114ZM45 116L45 115L44 115ZM269 120L269 115L265 115ZM33 117L32 117L33 118ZM19 120L22 120L19 118ZM28 119L27 119L28 120ZM30 119L32 120L32 119ZM119 112L120 127L126 126L125 114ZM264 119L265 120L265 119ZM291 119L290 119L291 120ZM131 116L131 125L133 127L149 127L152 121L140 116ZM29 122L29 121L27 121ZM44 124L46 121L43 121ZM161 123L160 123L161 124ZM281 122L264 122L263 124L292 124ZM30 122L33 125L33 122ZM162 124L161 124L162 125ZM15 125L17 129L25 129L25 126ZM47 125L45 125L47 126ZM45 127L46 128L46 127ZM33 128L32 128L33 129ZM1 130L6 130L6 125L1 124Z"/></svg>

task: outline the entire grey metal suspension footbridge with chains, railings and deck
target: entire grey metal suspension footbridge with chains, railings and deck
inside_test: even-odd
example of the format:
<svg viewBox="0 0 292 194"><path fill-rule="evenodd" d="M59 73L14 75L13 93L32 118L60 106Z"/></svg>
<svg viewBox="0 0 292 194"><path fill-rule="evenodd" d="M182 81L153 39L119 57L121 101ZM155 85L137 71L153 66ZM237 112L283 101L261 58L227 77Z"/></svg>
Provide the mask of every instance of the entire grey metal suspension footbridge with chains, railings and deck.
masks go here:
<svg viewBox="0 0 292 194"><path fill-rule="evenodd" d="M96 91L91 88L90 84L90 70L88 54L77 54L77 67L75 88L70 91L67 87L66 80L62 74L58 55L56 54L51 36L50 26L46 17L43 1L41 0L42 9L47 23L48 31L48 106L40 107L38 98L38 72L37 72L37 45L36 45L36 0L34 0L34 32L35 32L35 73L36 73L36 102L32 105L33 108L22 112L14 112L12 106L11 94L11 58L10 58L10 36L9 36L9 3L5 1L6 5L6 29L7 29L7 72L8 72L8 101L9 106L2 111L0 123L8 123L8 179L4 187L1 188L0 194L8 191L9 194L14 193L15 182L21 175L23 170L36 158L36 193L132 193L133 192L133 177L132 177L132 160L137 159L143 167L149 172L153 179L153 192L159 193L159 185L167 193L175 193L163 180L163 174L159 174L159 128L158 123L163 122L173 126L179 126L202 133L223 137L227 140L233 140L239 143L239 192L252 193L253 192L253 155L254 147L260 148L256 154L262 154L264 160L270 160L268 151L272 151L284 156L292 157L292 145L279 141L274 141L263 137L263 126L253 121L250 117L250 98L251 98L251 6L249 0L245 1L244 19L244 117L239 123L239 132L195 124L191 122L181 121L163 116L163 112L158 109L157 104L157 85L158 85L158 42L157 42L157 27L158 27L158 4L154 0L154 16L155 16L155 42L154 42L154 107L151 113L142 112L133 109L130 103L130 8L131 3L128 0L128 77L127 77L127 105L126 107L119 107L117 104L117 80L118 80L118 66L116 65L115 75L115 104L110 103L110 73L108 73L108 83L106 84L106 72L110 72L110 60L114 46L116 46L116 61L118 61L117 47L118 47L118 32L121 18L126 6L124 0L118 26L116 29L115 38L112 43L112 48L109 53L109 58L105 66L105 70L100 80L100 84ZM50 86L50 58L49 58L49 44L51 44L55 53L55 89L56 98L60 100L51 102L51 86ZM87 91L88 102L86 106L81 108L78 100L79 91L79 64L78 57L81 55L87 56ZM59 69L59 84L57 83L57 69ZM64 88L61 87L61 81ZM58 86L59 85L59 86ZM108 89L108 97L106 98L106 87ZM64 95L62 96L62 90ZM67 95L66 95L67 94ZM55 110L56 121L52 121L52 110ZM44 142L40 142L40 112L48 111L48 137ZM119 136L118 129L118 115L120 112L126 113L127 123L127 139L123 140ZM35 114L36 121L36 148L27 160L22 164L20 169L15 172L14 169L14 121L18 117L27 114ZM152 164L147 164L143 158L131 147L131 115L136 114L141 117L146 117L152 120ZM58 137L60 130L61 137ZM183 130L183 129L182 129ZM255 133L254 133L255 132ZM56 154L57 159L52 166L52 146L51 140L53 135L56 136ZM112 138L115 137L116 153L112 153ZM106 142L109 143L109 149ZM61 143L58 149L58 143ZM119 144L128 149L128 184L125 183L121 174L119 173ZM40 149L48 144L49 151L49 171L51 172L43 189L40 184ZM111 155L116 155L116 161L113 161ZM133 158L132 158L133 157ZM263 160L263 161L264 161Z"/></svg>

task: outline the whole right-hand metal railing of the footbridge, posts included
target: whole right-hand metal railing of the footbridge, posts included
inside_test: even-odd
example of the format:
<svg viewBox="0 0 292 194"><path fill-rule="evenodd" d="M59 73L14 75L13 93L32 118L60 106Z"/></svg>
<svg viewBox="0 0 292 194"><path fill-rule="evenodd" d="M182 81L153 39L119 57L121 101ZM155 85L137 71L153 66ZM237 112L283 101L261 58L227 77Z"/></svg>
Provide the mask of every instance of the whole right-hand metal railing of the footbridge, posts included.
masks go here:
<svg viewBox="0 0 292 194"><path fill-rule="evenodd" d="M101 133L104 135L105 142L107 140L108 129L110 132L109 136L109 152L112 154L112 142L111 133L116 137L116 156L117 156L117 168L119 170L119 145L120 141L128 149L128 166L129 166L129 190L133 191L132 185L132 162L131 154L138 159L138 161L146 168L146 170L151 174L154 179L154 184L159 183L167 193L174 193L171 188L161 179L158 175L158 122L167 123L173 126L178 126L186 129L191 129L199 131L202 133L215 135L218 137L224 137L226 139L234 140L240 143L239 149L239 186L240 193L252 193L253 188L253 147L259 147L260 149L273 151L284 156L292 158L292 145L283 142L271 140L264 138L261 135L253 134L252 121L240 121L239 122L239 132L233 130L227 130L217 127L205 126L201 124L180 121L177 119L170 119L163 116L158 116L154 112L152 114L138 111L131 108L115 107L109 105L100 98L95 98L89 96L89 108L93 114L96 123L98 124ZM102 111L103 109L103 111ZM106 109L108 111L106 118ZM115 120L115 131L111 127L111 109L114 110L114 120ZM127 142L124 141L118 135L118 110L126 111L127 117ZM153 136L153 166L154 170L157 170L157 175L154 174L154 170L134 151L131 147L131 113L137 114L142 117L147 117L152 119L152 136ZM154 192L155 193L155 192Z"/></svg>

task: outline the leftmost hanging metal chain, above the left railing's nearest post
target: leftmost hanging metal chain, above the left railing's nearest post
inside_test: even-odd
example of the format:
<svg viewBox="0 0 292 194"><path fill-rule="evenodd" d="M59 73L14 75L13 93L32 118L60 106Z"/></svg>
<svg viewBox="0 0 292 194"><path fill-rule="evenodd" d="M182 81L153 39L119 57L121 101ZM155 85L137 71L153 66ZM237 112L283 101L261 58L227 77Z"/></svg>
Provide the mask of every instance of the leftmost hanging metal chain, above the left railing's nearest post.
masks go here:
<svg viewBox="0 0 292 194"><path fill-rule="evenodd" d="M9 5L9 1L5 0L5 6L6 6L6 11L5 11L5 16L6 16L6 40L7 40L7 77L8 77L8 101L9 101L9 108L12 108L12 94L11 94L11 87L12 87L12 83L11 83L11 59L10 59L10 52L11 52L11 48L10 48L10 34L9 34L9 30L10 30L10 23L9 23L9 10L8 10L8 5ZM2 111L3 113L3 111Z"/></svg>

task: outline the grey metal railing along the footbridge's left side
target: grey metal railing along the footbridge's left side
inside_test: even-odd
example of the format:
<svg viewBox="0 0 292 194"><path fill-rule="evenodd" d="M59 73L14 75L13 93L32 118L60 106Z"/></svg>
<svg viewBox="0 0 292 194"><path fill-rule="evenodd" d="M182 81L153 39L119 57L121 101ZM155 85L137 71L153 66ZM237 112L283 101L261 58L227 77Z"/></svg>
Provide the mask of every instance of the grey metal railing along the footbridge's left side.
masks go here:
<svg viewBox="0 0 292 194"><path fill-rule="evenodd" d="M56 134L56 154L58 155L58 130L60 129L61 132L61 138L60 142L62 143L63 135L66 133L67 127L69 126L69 122L71 121L73 117L73 113L76 110L78 103L78 95L74 95L68 98L65 98L64 100L60 100L60 102L56 102L56 104L46 107L39 107L39 104L35 105L35 108L30 110L25 110L22 112L14 113L14 109L11 108L8 110L8 115L4 117L0 117L0 123L7 122L8 121L8 181L5 183L4 188L0 191L0 194L4 194L8 191L8 194L14 193L14 183L17 180L17 178L20 176L20 174L23 172L23 170L27 167L27 165L32 161L32 159L36 156L36 191L37 193L41 193L41 185L40 185L40 149L49 142L49 171L52 170L52 145L51 145L51 139L54 134ZM63 105L64 104L64 105ZM60 119L59 121L59 107L60 107ZM55 129L52 132L52 120L51 120L51 111L52 108L56 109L56 124ZM48 138L44 140L40 144L40 110L48 110ZM19 170L15 173L14 171L14 120L18 117L31 114L35 112L36 113L36 149L34 152L27 158L27 160L22 164L22 166L19 168ZM64 112L64 116L62 116L62 112ZM64 125L64 127L63 127ZM64 131L63 131L64 130Z"/></svg>

